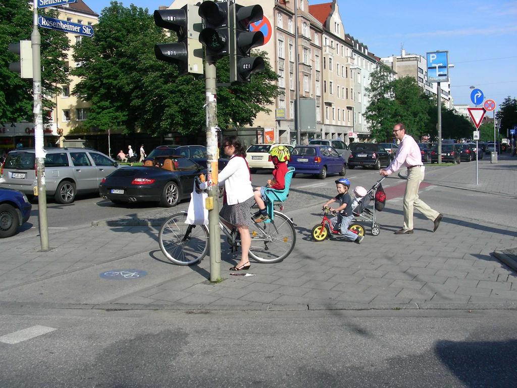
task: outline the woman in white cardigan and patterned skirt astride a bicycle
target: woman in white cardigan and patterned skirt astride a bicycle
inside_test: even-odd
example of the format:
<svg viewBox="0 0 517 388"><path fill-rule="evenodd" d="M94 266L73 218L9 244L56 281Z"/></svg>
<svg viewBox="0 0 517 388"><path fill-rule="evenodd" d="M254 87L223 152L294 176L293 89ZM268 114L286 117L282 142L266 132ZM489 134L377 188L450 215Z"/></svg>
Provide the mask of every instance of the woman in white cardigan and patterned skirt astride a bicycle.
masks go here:
<svg viewBox="0 0 517 388"><path fill-rule="evenodd" d="M237 227L242 249L240 261L230 271L246 271L250 268L248 251L251 246L249 228L252 226L251 206L255 203L251 174L246 161L246 151L236 136L224 139L224 153L230 160L219 173L219 186L224 185L223 207L219 215ZM226 224L227 225L227 224ZM230 228L232 225L227 225Z"/></svg>

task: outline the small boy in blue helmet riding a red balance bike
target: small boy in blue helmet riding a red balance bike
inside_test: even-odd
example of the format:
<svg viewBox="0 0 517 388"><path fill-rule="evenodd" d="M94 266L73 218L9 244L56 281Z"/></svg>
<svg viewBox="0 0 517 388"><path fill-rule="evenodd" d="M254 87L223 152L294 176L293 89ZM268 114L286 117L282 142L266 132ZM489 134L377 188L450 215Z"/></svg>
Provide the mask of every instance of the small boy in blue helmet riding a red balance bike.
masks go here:
<svg viewBox="0 0 517 388"><path fill-rule="evenodd" d="M332 229L336 230L339 226L341 234L346 238L347 241L354 241L357 244L360 244L363 236L359 236L358 234L348 230L348 226L354 218L352 215L352 198L348 193L349 187L350 181L347 178L338 179L336 181L338 195L325 202L323 207L327 207L331 203L338 201L339 207L332 209L333 211L337 212L337 215L330 219L330 225L332 226Z"/></svg>

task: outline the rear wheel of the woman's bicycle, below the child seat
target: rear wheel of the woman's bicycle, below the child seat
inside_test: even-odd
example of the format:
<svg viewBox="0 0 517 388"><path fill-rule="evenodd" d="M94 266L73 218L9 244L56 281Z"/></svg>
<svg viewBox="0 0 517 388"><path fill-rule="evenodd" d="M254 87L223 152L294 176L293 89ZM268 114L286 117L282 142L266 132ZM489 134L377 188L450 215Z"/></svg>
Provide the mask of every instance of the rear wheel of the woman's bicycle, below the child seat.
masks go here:
<svg viewBox="0 0 517 388"><path fill-rule="evenodd" d="M252 222L250 256L260 263L278 263L293 251L296 231L285 214L275 211L271 222Z"/></svg>

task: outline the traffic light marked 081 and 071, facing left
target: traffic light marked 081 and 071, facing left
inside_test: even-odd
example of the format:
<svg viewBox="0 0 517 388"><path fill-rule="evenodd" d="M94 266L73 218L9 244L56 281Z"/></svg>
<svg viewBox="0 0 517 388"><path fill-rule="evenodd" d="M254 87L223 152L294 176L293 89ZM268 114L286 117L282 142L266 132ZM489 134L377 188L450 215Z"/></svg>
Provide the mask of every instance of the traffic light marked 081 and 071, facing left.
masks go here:
<svg viewBox="0 0 517 388"><path fill-rule="evenodd" d="M156 58L176 64L180 76L203 74L203 46L199 42L202 21L197 6L188 4L180 9L160 9L153 17L158 27L178 34L178 43L155 44Z"/></svg>

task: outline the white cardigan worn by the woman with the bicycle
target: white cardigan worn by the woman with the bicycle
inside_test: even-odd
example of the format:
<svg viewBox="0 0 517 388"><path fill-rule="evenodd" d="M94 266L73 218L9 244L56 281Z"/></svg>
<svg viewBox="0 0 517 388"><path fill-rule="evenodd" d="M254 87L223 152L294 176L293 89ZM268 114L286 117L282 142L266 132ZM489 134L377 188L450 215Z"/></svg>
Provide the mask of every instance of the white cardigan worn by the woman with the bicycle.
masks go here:
<svg viewBox="0 0 517 388"><path fill-rule="evenodd" d="M253 187L250 181L250 170L246 160L240 156L232 156L228 164L219 173L218 185L224 184L226 203L235 205L253 197Z"/></svg>

